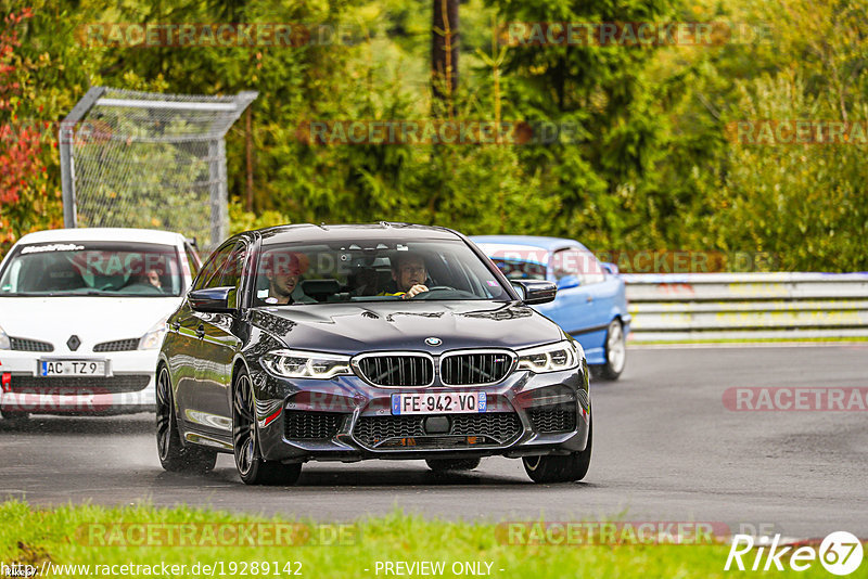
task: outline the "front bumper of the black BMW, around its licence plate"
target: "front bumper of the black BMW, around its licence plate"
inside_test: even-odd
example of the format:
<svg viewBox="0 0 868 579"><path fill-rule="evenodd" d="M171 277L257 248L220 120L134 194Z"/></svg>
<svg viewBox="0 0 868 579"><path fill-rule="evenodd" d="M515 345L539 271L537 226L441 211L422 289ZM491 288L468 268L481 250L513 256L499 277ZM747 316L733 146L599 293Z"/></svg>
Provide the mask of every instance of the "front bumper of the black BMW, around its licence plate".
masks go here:
<svg viewBox="0 0 868 579"><path fill-rule="evenodd" d="M356 376L290 381L256 374L266 460L518 458L576 452L587 442L590 399L584 362L563 372L518 371L477 387L385 388ZM485 393L486 412L392 414L393 394L435 391Z"/></svg>

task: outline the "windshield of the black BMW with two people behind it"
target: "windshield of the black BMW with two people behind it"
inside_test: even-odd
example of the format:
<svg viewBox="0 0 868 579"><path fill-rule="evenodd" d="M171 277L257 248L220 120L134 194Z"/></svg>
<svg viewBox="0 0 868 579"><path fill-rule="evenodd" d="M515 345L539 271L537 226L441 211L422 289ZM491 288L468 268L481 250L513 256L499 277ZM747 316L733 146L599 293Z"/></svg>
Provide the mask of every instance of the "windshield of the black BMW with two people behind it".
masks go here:
<svg viewBox="0 0 868 579"><path fill-rule="evenodd" d="M512 299L486 263L457 240L266 245L256 268L255 306L390 301L410 296L413 300Z"/></svg>

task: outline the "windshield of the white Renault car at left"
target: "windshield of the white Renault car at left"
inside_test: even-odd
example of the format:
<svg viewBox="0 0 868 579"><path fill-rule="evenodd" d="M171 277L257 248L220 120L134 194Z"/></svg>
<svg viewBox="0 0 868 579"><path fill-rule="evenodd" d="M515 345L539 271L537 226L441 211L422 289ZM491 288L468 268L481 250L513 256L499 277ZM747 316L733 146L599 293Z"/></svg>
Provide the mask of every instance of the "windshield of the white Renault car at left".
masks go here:
<svg viewBox="0 0 868 579"><path fill-rule="evenodd" d="M64 242L18 246L0 296L179 296L183 278L170 245Z"/></svg>

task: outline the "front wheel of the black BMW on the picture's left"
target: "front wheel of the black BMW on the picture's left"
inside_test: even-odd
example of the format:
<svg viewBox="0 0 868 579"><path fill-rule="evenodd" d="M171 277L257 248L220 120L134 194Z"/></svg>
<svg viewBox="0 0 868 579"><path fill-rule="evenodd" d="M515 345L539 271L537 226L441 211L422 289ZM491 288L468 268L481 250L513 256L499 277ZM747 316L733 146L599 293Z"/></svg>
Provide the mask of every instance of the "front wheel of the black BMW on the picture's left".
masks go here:
<svg viewBox="0 0 868 579"><path fill-rule="evenodd" d="M247 371L235 374L232 386L232 450L235 468L245 485L292 486L302 474L302 463L266 461L259 450L253 384Z"/></svg>

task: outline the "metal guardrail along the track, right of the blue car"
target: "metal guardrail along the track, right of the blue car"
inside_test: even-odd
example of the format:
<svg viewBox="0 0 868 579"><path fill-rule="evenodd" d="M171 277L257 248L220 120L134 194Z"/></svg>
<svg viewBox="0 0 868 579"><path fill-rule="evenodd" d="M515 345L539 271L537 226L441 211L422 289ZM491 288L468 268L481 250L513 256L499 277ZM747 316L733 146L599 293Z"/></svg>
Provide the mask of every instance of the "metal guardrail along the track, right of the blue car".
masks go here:
<svg viewBox="0 0 868 579"><path fill-rule="evenodd" d="M623 276L636 343L868 337L868 273Z"/></svg>

